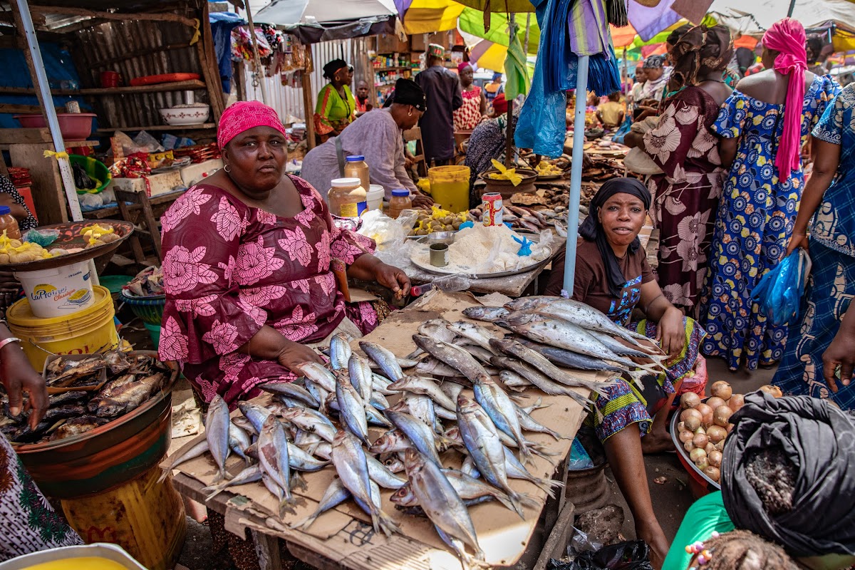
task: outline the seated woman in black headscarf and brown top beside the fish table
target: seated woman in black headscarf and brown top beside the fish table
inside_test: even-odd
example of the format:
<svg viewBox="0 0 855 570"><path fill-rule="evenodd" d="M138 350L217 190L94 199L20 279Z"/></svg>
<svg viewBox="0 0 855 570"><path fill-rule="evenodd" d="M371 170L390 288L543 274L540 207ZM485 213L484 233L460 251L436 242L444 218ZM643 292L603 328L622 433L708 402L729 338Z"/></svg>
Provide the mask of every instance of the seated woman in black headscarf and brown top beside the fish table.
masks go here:
<svg viewBox="0 0 855 570"><path fill-rule="evenodd" d="M650 544L653 565L658 567L668 541L653 513L642 448L648 453L673 449L665 432L667 411L675 384L693 368L702 332L663 296L640 247L638 235L650 202L650 192L636 179L610 179L600 187L579 228L573 298L621 326L628 326L634 309L641 309L646 320L630 328L655 338L672 357L666 373L646 378L643 391L624 379L602 390L595 402L598 413L588 420L629 503L635 532ZM562 252L553 261L546 295L561 294L563 261Z"/></svg>

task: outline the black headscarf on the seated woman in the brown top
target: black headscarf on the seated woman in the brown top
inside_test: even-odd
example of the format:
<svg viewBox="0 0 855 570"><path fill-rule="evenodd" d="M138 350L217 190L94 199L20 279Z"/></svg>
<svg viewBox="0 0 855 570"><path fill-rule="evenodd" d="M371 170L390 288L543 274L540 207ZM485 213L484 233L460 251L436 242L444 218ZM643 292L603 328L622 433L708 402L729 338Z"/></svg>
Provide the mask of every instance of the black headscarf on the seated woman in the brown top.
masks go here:
<svg viewBox="0 0 855 570"><path fill-rule="evenodd" d="M620 297L623 285L626 284L627 278L621 271L621 265L617 262L615 251L611 249L609 240L605 237L603 226L599 223L599 209L610 197L615 194L631 194L634 197L640 198L644 203L645 209L650 208L650 191L646 186L641 184L634 178L613 178L605 182L599 187L599 190L594 194L591 200L591 206L588 208L588 217L579 226L579 235L587 239L589 242L597 242L599 255L603 257L605 273L609 278L609 293L612 297ZM641 247L639 238L633 240L629 244L628 253L634 254Z"/></svg>

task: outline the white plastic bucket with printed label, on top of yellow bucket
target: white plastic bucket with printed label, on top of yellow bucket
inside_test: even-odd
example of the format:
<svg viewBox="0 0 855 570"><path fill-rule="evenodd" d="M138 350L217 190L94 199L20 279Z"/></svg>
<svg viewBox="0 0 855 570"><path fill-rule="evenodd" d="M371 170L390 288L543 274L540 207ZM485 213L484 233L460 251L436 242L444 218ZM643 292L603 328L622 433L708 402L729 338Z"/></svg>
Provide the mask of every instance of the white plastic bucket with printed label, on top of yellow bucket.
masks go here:
<svg viewBox="0 0 855 570"><path fill-rule="evenodd" d="M61 317L95 303L89 261L80 261L54 269L18 271L32 314L42 319Z"/></svg>

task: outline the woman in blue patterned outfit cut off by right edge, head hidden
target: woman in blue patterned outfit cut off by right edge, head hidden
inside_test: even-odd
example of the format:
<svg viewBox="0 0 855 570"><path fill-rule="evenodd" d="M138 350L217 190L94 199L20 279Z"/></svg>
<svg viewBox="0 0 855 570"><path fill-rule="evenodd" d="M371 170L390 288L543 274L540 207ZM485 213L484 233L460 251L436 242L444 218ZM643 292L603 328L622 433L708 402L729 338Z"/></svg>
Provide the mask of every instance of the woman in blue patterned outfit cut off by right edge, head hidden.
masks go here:
<svg viewBox="0 0 855 570"><path fill-rule="evenodd" d="M812 150L813 173L787 253L810 244L813 267L802 318L790 326L773 383L788 394L831 398L840 408L852 409L855 385L846 381L852 378L852 364L846 366L846 354L836 357L826 350L855 297L855 84L825 109L813 130ZM851 357L853 347L842 352ZM834 365L840 363L844 382L836 385Z"/></svg>

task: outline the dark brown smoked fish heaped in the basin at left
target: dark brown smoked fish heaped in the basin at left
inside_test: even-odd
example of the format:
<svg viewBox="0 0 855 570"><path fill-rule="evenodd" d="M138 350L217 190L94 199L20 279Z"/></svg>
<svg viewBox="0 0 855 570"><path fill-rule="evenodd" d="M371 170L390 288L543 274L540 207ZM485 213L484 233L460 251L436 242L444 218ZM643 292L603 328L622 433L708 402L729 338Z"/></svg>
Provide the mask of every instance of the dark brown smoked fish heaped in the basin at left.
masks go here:
<svg viewBox="0 0 855 570"><path fill-rule="evenodd" d="M36 429L27 425L29 411L13 416L3 394L0 432L16 444L56 441L88 432L139 408L164 389L169 368L147 355L113 350L80 360L60 357L45 368L49 408ZM26 408L26 407L25 407Z"/></svg>

